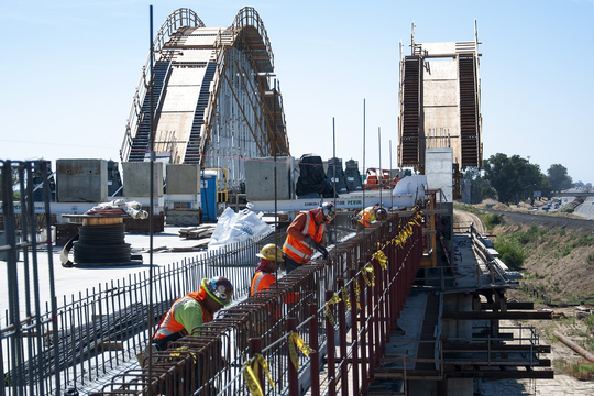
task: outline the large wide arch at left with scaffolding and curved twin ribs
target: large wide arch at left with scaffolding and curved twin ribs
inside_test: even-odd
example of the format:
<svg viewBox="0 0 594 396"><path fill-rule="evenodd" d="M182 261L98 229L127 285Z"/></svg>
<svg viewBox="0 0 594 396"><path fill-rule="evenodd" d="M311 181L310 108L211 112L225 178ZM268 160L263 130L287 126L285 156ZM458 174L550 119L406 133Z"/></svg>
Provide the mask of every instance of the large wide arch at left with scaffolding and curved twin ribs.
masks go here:
<svg viewBox="0 0 594 396"><path fill-rule="evenodd" d="M143 68L122 162L145 161L153 140L172 164L226 169L235 189L246 158L289 155L274 54L253 8L241 9L229 28L207 28L194 11L178 9L153 45L154 66L148 58Z"/></svg>

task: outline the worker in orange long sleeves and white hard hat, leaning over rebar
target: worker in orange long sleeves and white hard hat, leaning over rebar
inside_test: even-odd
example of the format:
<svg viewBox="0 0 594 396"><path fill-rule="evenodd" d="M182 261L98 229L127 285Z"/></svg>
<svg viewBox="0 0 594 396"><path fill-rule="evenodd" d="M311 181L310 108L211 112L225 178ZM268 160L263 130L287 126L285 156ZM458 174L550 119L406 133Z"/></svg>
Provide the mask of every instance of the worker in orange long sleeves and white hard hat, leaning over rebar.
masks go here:
<svg viewBox="0 0 594 396"><path fill-rule="evenodd" d="M287 229L287 239L283 245L287 274L308 263L314 251L320 252L328 258L323 246L326 224L337 216L337 209L331 202L323 202L316 209L300 211Z"/></svg>

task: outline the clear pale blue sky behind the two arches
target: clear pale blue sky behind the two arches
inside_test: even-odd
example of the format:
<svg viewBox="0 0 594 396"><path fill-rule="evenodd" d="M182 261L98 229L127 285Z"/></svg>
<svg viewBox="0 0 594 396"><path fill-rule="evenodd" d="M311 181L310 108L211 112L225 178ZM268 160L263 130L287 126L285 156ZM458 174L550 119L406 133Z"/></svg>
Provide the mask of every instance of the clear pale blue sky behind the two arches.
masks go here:
<svg viewBox="0 0 594 396"><path fill-rule="evenodd" d="M244 6L264 21L292 154L396 167L399 43L474 40L477 21L484 157L530 156L594 182L593 0L0 2L0 158L92 157L119 150L154 32L177 8L229 26Z"/></svg>

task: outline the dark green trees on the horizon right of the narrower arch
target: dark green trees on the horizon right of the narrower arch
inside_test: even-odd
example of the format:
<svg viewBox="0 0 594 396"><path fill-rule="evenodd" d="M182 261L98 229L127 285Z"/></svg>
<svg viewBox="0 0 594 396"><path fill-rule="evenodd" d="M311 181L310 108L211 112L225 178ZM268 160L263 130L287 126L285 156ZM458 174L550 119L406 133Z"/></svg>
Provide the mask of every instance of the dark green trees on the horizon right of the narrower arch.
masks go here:
<svg viewBox="0 0 594 396"><path fill-rule="evenodd" d="M561 164L552 164L544 175L537 164L519 155L508 157L502 153L483 160L481 170L466 168L464 178L472 180L472 204L487 198L504 204L516 204L524 199L534 201L534 191L547 197L573 186L568 169Z"/></svg>

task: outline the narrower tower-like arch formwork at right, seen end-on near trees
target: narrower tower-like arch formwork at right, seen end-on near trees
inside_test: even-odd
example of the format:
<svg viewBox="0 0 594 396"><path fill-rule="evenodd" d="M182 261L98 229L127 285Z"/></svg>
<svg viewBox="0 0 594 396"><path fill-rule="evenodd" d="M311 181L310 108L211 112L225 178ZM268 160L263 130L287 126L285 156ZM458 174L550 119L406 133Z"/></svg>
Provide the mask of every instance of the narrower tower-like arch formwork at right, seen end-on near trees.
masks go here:
<svg viewBox="0 0 594 396"><path fill-rule="evenodd" d="M413 41L400 65L398 166L424 170L426 148L449 147L459 169L481 167L479 44Z"/></svg>

